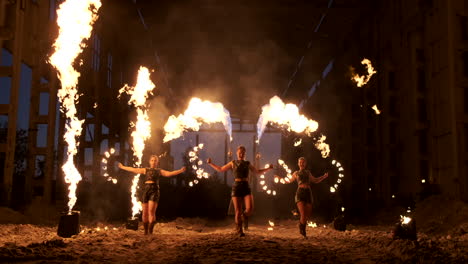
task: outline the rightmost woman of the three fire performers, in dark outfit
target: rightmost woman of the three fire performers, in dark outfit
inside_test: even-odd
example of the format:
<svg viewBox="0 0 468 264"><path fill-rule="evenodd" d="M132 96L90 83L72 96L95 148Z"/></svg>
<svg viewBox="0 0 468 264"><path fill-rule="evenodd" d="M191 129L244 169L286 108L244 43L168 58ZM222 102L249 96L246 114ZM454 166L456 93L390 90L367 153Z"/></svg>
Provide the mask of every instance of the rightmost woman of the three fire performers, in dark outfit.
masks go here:
<svg viewBox="0 0 468 264"><path fill-rule="evenodd" d="M297 191L294 200L297 208L299 209L299 233L306 236L306 224L307 220L312 215L312 203L314 198L312 197L312 190L310 189L310 183L320 183L328 177L328 172L320 177L314 177L309 170L306 170L307 161L304 157L300 157L297 161L299 170L292 174L294 180L297 180Z"/></svg>

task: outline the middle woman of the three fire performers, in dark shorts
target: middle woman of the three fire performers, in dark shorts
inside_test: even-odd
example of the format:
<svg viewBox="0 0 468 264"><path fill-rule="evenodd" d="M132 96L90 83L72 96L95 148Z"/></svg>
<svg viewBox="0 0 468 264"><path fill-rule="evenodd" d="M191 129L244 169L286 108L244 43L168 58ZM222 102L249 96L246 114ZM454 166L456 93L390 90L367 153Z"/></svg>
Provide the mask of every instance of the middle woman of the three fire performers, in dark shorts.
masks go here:
<svg viewBox="0 0 468 264"><path fill-rule="evenodd" d="M218 172L233 171L234 184L232 185L231 197L232 203L234 204L236 231L241 237L245 235L242 230L242 222L246 221L247 217L249 217L253 211L252 191L250 190L248 182L249 170L253 173L260 174L273 168L272 164L265 169L255 168L249 161L245 160L245 152L245 147L239 146L237 148L237 160L232 160L222 167L212 163L211 158L207 160L207 163ZM242 202L245 204L244 212L242 212Z"/></svg>

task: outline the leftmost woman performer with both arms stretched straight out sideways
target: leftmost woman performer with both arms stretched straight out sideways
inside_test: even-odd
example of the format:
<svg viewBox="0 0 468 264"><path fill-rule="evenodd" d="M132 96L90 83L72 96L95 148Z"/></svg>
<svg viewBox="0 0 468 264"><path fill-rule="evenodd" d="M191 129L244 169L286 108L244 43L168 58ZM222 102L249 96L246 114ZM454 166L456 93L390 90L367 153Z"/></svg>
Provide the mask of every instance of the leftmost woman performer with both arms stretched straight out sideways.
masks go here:
<svg viewBox="0 0 468 264"><path fill-rule="evenodd" d="M143 187L143 195L141 196L143 208L143 226L145 235L152 234L154 224L156 223L156 209L159 202L159 178L161 176L171 177L183 173L185 167L175 171L166 171L158 168L159 157L151 155L149 160L149 168L134 168L127 167L119 163L119 168L136 174L144 174L145 186Z"/></svg>

